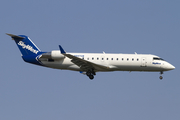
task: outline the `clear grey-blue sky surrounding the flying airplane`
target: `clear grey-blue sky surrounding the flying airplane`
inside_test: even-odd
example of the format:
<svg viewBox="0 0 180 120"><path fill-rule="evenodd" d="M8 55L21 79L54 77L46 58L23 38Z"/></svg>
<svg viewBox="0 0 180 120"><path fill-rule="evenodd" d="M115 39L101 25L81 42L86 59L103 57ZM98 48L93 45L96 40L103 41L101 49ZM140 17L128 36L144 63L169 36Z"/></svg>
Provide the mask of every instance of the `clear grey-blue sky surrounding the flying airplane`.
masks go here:
<svg viewBox="0 0 180 120"><path fill-rule="evenodd" d="M180 1L1 0L0 120L179 120ZM155 54L159 73L78 72L25 63L5 33L42 51Z"/></svg>

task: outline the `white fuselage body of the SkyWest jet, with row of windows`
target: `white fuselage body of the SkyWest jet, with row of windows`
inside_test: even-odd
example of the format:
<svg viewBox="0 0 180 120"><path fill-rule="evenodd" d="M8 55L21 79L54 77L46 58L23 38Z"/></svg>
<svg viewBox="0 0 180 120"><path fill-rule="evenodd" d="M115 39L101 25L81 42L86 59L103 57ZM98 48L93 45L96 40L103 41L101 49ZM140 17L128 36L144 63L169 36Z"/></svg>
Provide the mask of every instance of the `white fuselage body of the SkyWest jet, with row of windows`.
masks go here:
<svg viewBox="0 0 180 120"><path fill-rule="evenodd" d="M57 56L62 54L57 52ZM148 54L106 54L106 53L69 53L81 59L95 64L107 66L107 70L99 71L168 71L174 69L174 66L155 55ZM57 57L58 58L58 57ZM79 66L71 62L71 59L64 57L61 59L40 59L41 63L50 68L82 71Z"/></svg>

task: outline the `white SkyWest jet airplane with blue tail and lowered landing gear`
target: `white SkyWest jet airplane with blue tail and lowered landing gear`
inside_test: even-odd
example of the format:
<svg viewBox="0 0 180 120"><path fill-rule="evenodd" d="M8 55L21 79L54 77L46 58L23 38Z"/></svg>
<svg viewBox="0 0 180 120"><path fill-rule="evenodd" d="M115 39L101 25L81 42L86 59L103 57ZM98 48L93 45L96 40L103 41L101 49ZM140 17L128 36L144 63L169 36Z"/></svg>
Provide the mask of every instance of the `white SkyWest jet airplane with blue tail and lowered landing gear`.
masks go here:
<svg viewBox="0 0 180 120"><path fill-rule="evenodd" d="M97 72L110 71L147 71L160 72L175 69L162 58L151 54L107 54L103 53L68 53L61 45L59 50L42 52L28 36L8 34L16 42L25 62L44 67L79 71L91 80Z"/></svg>

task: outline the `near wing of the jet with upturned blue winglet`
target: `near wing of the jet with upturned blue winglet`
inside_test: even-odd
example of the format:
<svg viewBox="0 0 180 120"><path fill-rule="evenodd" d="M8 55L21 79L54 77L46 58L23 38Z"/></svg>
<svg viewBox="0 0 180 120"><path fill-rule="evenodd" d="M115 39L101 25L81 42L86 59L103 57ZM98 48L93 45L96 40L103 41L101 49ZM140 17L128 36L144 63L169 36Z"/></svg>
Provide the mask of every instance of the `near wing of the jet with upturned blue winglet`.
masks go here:
<svg viewBox="0 0 180 120"><path fill-rule="evenodd" d="M59 45L61 54L71 59L71 62L79 66L83 71L94 70L94 71L101 71L109 69L108 66L99 65L96 63L89 62L87 60L81 59L74 55L68 54L64 51L64 49Z"/></svg>

